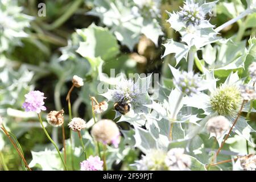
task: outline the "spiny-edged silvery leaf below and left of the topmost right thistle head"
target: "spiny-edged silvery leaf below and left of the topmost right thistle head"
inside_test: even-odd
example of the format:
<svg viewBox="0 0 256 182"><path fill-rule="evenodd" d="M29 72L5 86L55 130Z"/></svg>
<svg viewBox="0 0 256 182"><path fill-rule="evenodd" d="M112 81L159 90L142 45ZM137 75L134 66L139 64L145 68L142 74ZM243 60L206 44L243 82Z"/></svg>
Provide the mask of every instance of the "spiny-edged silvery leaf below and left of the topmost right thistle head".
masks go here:
<svg viewBox="0 0 256 182"><path fill-rule="evenodd" d="M188 56L189 47L185 44L174 42L173 39L168 40L163 46L166 47L166 49L162 58L170 53L175 53L176 65L179 64L181 59L186 59Z"/></svg>

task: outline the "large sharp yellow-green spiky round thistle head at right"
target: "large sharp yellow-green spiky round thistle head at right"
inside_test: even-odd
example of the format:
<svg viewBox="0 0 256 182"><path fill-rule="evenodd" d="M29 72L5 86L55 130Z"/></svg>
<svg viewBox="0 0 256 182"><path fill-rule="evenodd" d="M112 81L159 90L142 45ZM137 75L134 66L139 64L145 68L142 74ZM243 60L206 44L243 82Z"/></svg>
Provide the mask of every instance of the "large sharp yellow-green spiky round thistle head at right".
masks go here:
<svg viewBox="0 0 256 182"><path fill-rule="evenodd" d="M237 86L220 86L210 96L210 106L212 110L220 115L234 115L240 109L242 102L241 92Z"/></svg>

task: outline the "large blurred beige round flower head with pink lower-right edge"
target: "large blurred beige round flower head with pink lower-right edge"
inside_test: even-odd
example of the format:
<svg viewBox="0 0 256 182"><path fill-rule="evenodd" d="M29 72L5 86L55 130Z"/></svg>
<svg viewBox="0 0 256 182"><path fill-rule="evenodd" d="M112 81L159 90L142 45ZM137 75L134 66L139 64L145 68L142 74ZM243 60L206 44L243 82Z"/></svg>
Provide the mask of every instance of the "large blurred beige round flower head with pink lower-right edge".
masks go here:
<svg viewBox="0 0 256 182"><path fill-rule="evenodd" d="M115 122L110 119L102 119L95 123L91 134L96 141L104 144L112 143L114 147L118 147L120 142L119 129Z"/></svg>

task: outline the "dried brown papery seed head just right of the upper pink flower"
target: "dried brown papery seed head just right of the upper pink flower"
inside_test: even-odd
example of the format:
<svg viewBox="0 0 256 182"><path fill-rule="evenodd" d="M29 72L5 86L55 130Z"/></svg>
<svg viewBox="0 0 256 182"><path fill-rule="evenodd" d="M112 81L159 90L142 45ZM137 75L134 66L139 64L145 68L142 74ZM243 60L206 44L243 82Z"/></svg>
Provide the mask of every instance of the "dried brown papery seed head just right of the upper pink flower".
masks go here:
<svg viewBox="0 0 256 182"><path fill-rule="evenodd" d="M47 122L52 126L61 126L64 123L64 110L56 111L52 110L47 114Z"/></svg>

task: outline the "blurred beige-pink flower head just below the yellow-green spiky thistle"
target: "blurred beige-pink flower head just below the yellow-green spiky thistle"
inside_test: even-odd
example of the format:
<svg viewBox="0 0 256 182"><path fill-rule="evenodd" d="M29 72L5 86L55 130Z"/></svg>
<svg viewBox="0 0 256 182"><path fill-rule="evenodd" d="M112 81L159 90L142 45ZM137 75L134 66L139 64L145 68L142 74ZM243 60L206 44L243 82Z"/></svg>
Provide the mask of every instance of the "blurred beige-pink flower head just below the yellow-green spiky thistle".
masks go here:
<svg viewBox="0 0 256 182"><path fill-rule="evenodd" d="M207 130L216 134L216 138L220 137L224 131L229 129L229 120L222 115L210 118L207 123Z"/></svg>

